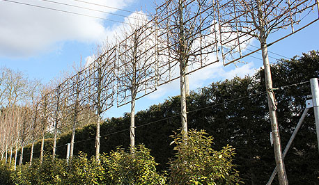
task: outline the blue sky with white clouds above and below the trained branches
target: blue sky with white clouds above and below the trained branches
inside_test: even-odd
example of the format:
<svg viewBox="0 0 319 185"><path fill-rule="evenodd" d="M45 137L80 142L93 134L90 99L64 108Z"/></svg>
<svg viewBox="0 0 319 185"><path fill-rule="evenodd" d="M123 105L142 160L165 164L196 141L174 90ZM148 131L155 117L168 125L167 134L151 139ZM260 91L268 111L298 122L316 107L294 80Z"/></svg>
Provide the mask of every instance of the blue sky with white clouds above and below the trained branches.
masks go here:
<svg viewBox="0 0 319 185"><path fill-rule="evenodd" d="M131 14L130 12L141 10L142 8L144 13L148 13L152 12L155 7L153 1L141 0L85 0L89 3L98 3L103 6L95 6L75 0L54 0L60 3L85 6L86 8L123 15L117 16L47 1L17 1L117 21L111 22L0 0L0 66L20 70L31 79L41 79L42 83L47 83L55 77L61 76L61 72L70 70L73 63L78 64L80 61L85 63L86 58L94 54L94 49L101 40L112 38L114 32L118 30L118 26L121 25L118 22L123 22L125 16ZM316 19L317 17L318 12L315 9L303 22L310 22L311 19ZM299 26L302 26L302 24ZM270 53L270 61L276 62L274 58L282 58L281 56L291 58L295 55L300 56L303 52L309 50L318 50L318 29L319 22L315 22L306 29L272 45L269 47L269 51L276 54ZM271 42L276 38L280 38L287 31L274 33L268 41ZM258 46L258 42L251 42L251 45ZM254 47L251 47L251 49L254 49ZM260 59L261 54L254 54L253 57L242 59L244 63L238 63L236 66L212 65L189 77L190 88L191 90L196 90L196 88L201 88L214 81L231 79L236 75L244 77L247 74L254 74L254 71L262 66ZM161 87L157 92L139 99L137 101L137 111L148 108L152 104L163 102L169 96L178 95L178 89L178 81ZM130 111L129 105L120 108L114 107L104 113L104 116L118 117L128 111Z"/></svg>

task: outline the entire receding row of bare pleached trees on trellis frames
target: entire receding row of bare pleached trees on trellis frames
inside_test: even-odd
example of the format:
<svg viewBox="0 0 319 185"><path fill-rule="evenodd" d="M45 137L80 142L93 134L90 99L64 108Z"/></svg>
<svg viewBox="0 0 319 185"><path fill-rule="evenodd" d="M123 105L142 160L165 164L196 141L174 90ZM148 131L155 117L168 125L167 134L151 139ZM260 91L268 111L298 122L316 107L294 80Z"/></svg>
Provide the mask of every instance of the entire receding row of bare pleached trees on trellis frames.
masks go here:
<svg viewBox="0 0 319 185"><path fill-rule="evenodd" d="M218 62L219 58L224 62L228 60L228 63L237 61L244 57L242 50L249 42L257 39L260 41L266 71L265 86L269 91L267 98L275 138L275 159L280 182L286 184L276 106L272 104L276 100L267 56L267 37L286 26L291 26L294 32L294 25L300 21L297 17L313 6L316 6L314 1L179 0L163 1L151 19L143 13L135 13L127 19L115 40L104 42L98 47L93 61L86 63L86 66L75 67L74 72L42 88L30 84L28 87L31 90L26 88L26 92L22 93L29 99L23 106L23 100L17 94L19 89L8 89L13 97L6 96L3 100L6 106L2 106L1 121L16 125L1 127L1 154L8 156L10 151L11 155L13 148L17 150L18 145L23 148L27 142L33 143L38 137L44 140L49 130L54 134L54 158L58 134L70 128L72 156L76 127L81 122L93 119L97 124L95 158L98 160L102 113L115 103L117 106L131 104L130 146L134 154L136 99L152 93L156 86L178 78L181 128L186 134L186 97L189 94L187 74ZM6 84L1 88L4 92ZM23 156L23 151L21 153ZM41 157L42 154L43 150Z"/></svg>

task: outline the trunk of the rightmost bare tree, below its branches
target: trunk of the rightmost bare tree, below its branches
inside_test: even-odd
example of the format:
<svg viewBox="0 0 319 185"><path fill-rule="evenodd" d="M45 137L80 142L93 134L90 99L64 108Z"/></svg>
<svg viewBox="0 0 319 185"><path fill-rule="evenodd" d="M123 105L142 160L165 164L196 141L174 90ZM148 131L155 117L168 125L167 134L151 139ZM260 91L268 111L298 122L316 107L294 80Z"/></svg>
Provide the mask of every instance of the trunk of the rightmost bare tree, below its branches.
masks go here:
<svg viewBox="0 0 319 185"><path fill-rule="evenodd" d="M270 122L272 125L272 138L274 140L274 157L278 168L279 184L288 184L285 165L283 163L283 157L281 152L281 141L279 136L279 125L276 115L276 99L274 98L274 91L272 88L272 74L270 72L270 63L267 53L267 44L265 40L261 42L263 65L265 67L265 86L267 90L267 101L270 113Z"/></svg>

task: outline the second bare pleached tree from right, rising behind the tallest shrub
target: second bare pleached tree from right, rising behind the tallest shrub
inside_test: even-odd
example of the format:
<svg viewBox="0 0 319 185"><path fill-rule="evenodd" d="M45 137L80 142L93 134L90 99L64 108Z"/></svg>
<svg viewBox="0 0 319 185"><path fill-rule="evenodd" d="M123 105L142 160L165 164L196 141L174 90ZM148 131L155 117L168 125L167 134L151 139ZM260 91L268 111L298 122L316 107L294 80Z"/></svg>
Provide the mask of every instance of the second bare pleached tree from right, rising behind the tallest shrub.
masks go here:
<svg viewBox="0 0 319 185"><path fill-rule="evenodd" d="M182 131L187 133L186 96L189 95L187 74L201 67L215 63L208 61L208 54L217 51L215 42L208 42L211 22L208 19L208 1L164 1L157 7L158 26L161 42L166 42L162 55L166 65L180 69L180 106ZM189 70L190 66L196 65Z"/></svg>

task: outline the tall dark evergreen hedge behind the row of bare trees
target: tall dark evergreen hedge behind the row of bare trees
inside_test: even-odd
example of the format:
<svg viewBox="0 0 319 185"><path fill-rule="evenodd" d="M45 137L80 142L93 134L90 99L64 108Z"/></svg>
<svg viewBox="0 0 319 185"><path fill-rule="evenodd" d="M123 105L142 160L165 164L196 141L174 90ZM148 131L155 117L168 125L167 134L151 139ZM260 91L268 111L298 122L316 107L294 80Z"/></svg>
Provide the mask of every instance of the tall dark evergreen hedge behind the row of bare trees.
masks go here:
<svg viewBox="0 0 319 185"><path fill-rule="evenodd" d="M300 119L306 106L307 95L311 95L309 80L306 79L319 75L318 56L318 51L311 51L302 57L296 56L290 60L281 60L279 63L272 65L274 86L277 88L275 90L278 102L277 113L283 145L288 143ZM235 77L231 80L212 83L210 86L191 92L187 97L189 129L197 129L198 131L205 129L211 136L214 136L215 139L212 143L212 149L214 150L221 150L227 144L235 147L236 154L232 157L232 160L236 165L235 169L239 170L240 177L245 184L266 184L275 166L269 136L271 129L268 123L267 106L265 106L267 97L265 96L264 86L264 70L260 69L252 77ZM176 152L173 150L176 145L171 143L173 138L169 136L173 134L172 131L178 131L178 128L180 128L179 110L180 96L176 96L169 97L161 104L139 111L136 115L138 128L136 130L136 144L143 143L145 147L150 149L150 154L154 156L156 163L160 164L156 167L158 172L170 168L169 159L176 159L174 157ZM319 173L318 168L316 168L318 162L315 160L318 156L318 145L314 123L313 111L310 110L306 114L302 127L286 155L285 164L290 184L316 184L318 180ZM129 113L120 118L107 119L101 124L100 151L104 153L102 156L116 151L118 146L129 147L130 143L127 142L130 140L129 124ZM95 129L95 123L77 129L75 154L84 152L93 157L91 160L95 160ZM70 143L71 135L72 131L60 135L56 153L59 159L56 159L58 160L57 163L48 164L45 162L46 165L59 166L61 158L65 160L66 144ZM38 140L34 146L36 158L40 156L40 143L40 140ZM45 151L51 152L52 143L52 138L45 140ZM181 144L181 142L177 143ZM201 156L200 154L203 151L195 149L201 145L193 144L192 146L190 144L186 146L189 152L181 152L180 154ZM185 147L180 145L180 148ZM31 144L24 147L24 151L26 153L24 154L24 168L27 170L29 169ZM125 157L129 153L130 150L127 150ZM137 155L136 151L135 155ZM182 159L181 161L188 160L185 157L188 156L181 155L178 159ZM47 160L51 161L51 159ZM189 160L191 162L187 165L194 169L190 174L195 175L197 171L193 162L196 159L190 157ZM203 169L205 161L200 159L199 162L203 164L197 166L196 169ZM38 159L33 161L35 166L37 166L37 163ZM81 163L81 165L86 166L84 163ZM70 166L73 166L73 164ZM86 167L84 168L86 169ZM186 168L187 166L185 166ZM48 171L39 170L39 172ZM56 174L61 175L59 170ZM48 175L41 176L47 177ZM273 184L278 184L278 181L275 180Z"/></svg>

